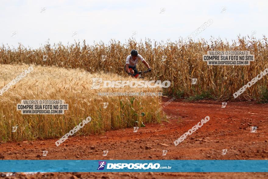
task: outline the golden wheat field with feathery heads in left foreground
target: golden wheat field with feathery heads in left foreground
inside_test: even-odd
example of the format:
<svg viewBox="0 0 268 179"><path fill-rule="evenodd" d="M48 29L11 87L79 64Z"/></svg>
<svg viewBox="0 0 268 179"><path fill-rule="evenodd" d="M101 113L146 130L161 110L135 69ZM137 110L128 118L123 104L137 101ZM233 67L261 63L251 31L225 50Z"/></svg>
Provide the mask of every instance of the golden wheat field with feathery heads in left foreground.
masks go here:
<svg viewBox="0 0 268 179"><path fill-rule="evenodd" d="M28 69L27 64L1 64L0 86L7 85ZM131 80L117 74L89 73L80 69L64 69L33 65L33 70L0 96L1 141L21 141L59 138L86 119L92 118L77 134L95 134L113 129L159 123L162 112L155 113L161 105L159 96L99 96L98 92L157 92L160 88L102 88L91 89L92 78L105 80ZM27 115L16 110L23 99L61 99L69 104L63 115ZM107 108L104 103L108 102ZM141 115L143 114L143 115ZM135 123L138 121L138 124ZM16 132L12 127L18 126Z"/></svg>

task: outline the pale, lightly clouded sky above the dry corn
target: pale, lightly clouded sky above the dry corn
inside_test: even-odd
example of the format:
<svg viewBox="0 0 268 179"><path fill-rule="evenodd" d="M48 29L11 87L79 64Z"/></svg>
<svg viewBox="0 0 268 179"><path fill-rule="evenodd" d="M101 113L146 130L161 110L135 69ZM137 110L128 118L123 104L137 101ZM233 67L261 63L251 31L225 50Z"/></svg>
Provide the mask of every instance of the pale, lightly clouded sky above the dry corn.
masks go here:
<svg viewBox="0 0 268 179"><path fill-rule="evenodd" d="M108 43L110 39L125 42L132 36L136 41L176 41L186 38L209 19L213 23L194 39L209 40L213 36L231 41L239 34L252 33L263 38L268 29L267 5L265 0L2 0L0 44L16 47L20 42L38 48L49 38L50 43L85 39L93 45L94 41Z"/></svg>

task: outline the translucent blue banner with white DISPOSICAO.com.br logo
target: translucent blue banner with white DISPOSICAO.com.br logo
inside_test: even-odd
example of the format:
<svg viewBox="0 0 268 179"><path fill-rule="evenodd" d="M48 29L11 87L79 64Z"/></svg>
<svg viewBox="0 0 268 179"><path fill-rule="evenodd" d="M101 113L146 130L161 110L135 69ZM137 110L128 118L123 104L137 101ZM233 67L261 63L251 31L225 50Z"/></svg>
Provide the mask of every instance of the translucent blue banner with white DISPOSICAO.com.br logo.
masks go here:
<svg viewBox="0 0 268 179"><path fill-rule="evenodd" d="M0 172L268 172L268 160L0 160Z"/></svg>

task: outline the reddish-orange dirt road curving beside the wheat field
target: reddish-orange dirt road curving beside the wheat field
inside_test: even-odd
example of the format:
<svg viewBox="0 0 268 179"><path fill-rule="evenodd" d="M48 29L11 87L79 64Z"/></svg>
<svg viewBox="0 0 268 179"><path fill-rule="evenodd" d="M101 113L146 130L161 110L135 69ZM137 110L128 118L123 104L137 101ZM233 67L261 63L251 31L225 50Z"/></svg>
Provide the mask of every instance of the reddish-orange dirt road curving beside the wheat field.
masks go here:
<svg viewBox="0 0 268 179"><path fill-rule="evenodd" d="M166 102L168 99L164 99ZM73 137L56 147L57 139L0 145L4 159L268 159L268 104L256 102L175 100L164 108L169 122ZM173 141L205 116L210 120L175 146ZM257 131L251 133L251 126ZM222 149L227 149L222 155ZM48 151L47 156L42 151ZM108 150L107 156L102 156ZM162 150L168 150L166 156ZM53 176L52 176L53 175ZM268 178L267 173L45 173L12 177L33 178ZM8 177L11 178L11 177Z"/></svg>

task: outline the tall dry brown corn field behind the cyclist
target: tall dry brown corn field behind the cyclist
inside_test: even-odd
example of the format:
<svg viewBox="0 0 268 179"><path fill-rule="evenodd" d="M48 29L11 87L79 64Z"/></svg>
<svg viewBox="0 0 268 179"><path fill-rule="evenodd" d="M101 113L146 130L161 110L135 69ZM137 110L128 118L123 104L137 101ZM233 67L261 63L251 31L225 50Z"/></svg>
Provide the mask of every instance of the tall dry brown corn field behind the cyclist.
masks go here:
<svg viewBox="0 0 268 179"><path fill-rule="evenodd" d="M171 87L165 93L178 97L203 95L221 100L233 99L234 92L268 67L265 37L260 40L238 37L232 44L220 39L189 41L181 48L177 44L169 41L152 42L150 39L136 42L129 39L124 44L111 40L108 45L101 42L91 46L86 45L85 41L82 45L78 42L68 46L47 43L34 50L23 45L17 49L3 45L0 49L0 63L81 68L90 73L104 71L126 76L123 70L125 59L131 49L137 49L152 68L150 77L153 80L171 81ZM209 50L248 50L255 55L255 61L249 66L208 66L202 61L202 55ZM42 60L43 55L48 55L46 61ZM143 64L138 64L137 68L145 70ZM198 78L198 85L191 85L191 78ZM267 77L264 77L237 99L259 99L263 95L260 90L267 90L267 86Z"/></svg>

